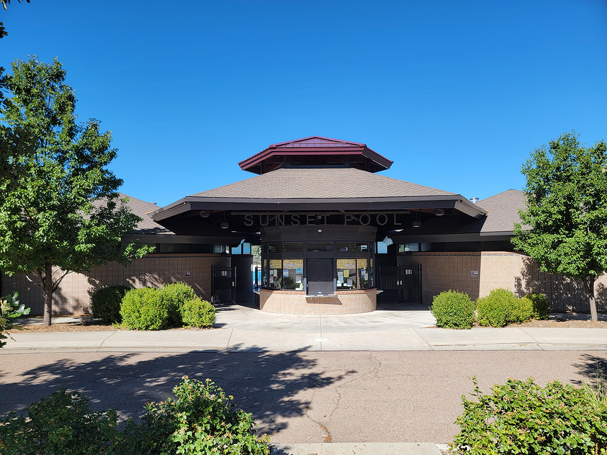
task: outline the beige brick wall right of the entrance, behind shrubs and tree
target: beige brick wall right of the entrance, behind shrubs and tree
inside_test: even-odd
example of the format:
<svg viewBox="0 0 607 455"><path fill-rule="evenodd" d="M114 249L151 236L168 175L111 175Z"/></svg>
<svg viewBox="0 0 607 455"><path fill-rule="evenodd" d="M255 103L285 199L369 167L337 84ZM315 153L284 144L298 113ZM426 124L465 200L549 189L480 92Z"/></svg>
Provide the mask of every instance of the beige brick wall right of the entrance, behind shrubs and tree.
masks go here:
<svg viewBox="0 0 607 455"><path fill-rule="evenodd" d="M492 289L510 289L518 295L543 292L555 311L589 312L588 297L582 283L561 275L540 272L535 261L512 252L414 252L399 256L399 265L422 266L424 303L442 291L458 289L475 300ZM470 272L478 271L478 277ZM607 275L595 284L597 309L607 312Z"/></svg>

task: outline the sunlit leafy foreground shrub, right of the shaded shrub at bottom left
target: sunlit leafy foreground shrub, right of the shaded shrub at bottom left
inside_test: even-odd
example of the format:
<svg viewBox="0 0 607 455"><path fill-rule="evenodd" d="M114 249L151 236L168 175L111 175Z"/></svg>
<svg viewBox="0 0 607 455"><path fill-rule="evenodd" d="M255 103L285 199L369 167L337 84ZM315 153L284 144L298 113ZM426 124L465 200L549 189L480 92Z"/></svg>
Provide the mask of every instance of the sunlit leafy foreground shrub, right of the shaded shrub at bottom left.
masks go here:
<svg viewBox="0 0 607 455"><path fill-rule="evenodd" d="M127 426L144 453L270 454L270 440L256 436L251 414L232 409L234 397L210 379L200 382L184 376L173 393L177 400L146 404L144 423Z"/></svg>

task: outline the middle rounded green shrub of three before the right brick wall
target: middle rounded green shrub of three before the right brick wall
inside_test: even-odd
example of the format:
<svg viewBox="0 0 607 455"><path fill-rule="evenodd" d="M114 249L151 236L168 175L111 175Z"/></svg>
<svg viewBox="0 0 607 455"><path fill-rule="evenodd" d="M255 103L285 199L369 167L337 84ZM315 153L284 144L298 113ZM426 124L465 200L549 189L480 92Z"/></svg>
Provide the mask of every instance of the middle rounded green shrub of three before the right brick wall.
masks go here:
<svg viewBox="0 0 607 455"><path fill-rule="evenodd" d="M493 289L476 300L476 318L482 326L504 327L533 317L531 301L518 298L507 289Z"/></svg>

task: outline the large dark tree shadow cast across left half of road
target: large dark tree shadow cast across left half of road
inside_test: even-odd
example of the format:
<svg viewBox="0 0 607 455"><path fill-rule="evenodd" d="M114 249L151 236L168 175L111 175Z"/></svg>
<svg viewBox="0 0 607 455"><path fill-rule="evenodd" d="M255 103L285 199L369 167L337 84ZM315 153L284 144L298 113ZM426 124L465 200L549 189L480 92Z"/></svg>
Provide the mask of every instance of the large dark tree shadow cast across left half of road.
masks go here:
<svg viewBox="0 0 607 455"><path fill-rule="evenodd" d="M253 413L260 433L275 433L287 428L287 419L307 412L315 389L356 373L350 370L330 376L315 371L317 361L305 351L95 352L48 357L49 362L18 374L3 368L0 414L21 410L58 388L67 388L89 397L95 409L119 409L122 419L140 417L144 403L172 396L172 388L188 375L212 379L234 396L236 408Z"/></svg>

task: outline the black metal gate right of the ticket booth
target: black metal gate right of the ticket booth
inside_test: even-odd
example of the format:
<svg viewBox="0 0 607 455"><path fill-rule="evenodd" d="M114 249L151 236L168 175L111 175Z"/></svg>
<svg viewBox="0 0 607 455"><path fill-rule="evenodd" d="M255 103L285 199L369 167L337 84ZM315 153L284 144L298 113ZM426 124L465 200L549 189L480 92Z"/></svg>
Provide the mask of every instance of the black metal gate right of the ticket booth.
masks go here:
<svg viewBox="0 0 607 455"><path fill-rule="evenodd" d="M376 283L378 289L392 291L390 294L398 302L422 303L421 264L412 267L379 266Z"/></svg>

